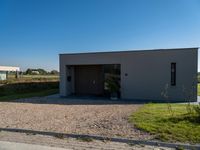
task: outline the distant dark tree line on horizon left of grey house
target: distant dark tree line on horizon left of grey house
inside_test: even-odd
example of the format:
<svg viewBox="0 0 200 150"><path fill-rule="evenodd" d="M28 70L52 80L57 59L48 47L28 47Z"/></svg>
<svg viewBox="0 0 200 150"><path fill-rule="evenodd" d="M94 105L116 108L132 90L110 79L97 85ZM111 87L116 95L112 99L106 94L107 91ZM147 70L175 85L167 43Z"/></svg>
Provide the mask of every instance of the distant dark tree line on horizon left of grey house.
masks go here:
<svg viewBox="0 0 200 150"><path fill-rule="evenodd" d="M57 70L52 70L50 72L44 70L44 69L31 69L31 68L28 68L24 74L26 75L58 75L59 72Z"/></svg>

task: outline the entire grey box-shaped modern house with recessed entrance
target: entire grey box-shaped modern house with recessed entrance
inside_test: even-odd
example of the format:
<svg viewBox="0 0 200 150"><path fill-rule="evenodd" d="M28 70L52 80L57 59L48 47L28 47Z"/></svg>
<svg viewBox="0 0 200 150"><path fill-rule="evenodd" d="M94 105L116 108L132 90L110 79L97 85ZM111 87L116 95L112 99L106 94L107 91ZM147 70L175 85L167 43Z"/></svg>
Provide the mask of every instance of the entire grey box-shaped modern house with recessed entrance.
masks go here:
<svg viewBox="0 0 200 150"><path fill-rule="evenodd" d="M112 79L121 99L197 101L197 57L198 48L60 54L60 95L107 96Z"/></svg>

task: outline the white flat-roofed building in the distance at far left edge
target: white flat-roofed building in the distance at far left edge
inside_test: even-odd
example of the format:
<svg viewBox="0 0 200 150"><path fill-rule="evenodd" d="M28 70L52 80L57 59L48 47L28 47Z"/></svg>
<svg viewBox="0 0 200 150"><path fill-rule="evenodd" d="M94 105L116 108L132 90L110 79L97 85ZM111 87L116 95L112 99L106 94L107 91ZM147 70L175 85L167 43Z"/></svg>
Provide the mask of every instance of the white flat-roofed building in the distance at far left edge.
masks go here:
<svg viewBox="0 0 200 150"><path fill-rule="evenodd" d="M20 71L19 67L0 66L0 80L6 80L8 72L18 73L19 71Z"/></svg>

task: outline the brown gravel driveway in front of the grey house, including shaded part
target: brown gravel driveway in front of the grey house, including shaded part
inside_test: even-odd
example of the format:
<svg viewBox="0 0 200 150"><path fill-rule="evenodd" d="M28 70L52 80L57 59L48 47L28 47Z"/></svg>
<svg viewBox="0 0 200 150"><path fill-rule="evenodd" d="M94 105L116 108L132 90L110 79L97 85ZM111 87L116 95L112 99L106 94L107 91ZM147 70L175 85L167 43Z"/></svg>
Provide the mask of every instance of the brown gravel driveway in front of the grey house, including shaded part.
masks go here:
<svg viewBox="0 0 200 150"><path fill-rule="evenodd" d="M140 106L54 97L0 102L0 128L149 139L128 123L128 116Z"/></svg>

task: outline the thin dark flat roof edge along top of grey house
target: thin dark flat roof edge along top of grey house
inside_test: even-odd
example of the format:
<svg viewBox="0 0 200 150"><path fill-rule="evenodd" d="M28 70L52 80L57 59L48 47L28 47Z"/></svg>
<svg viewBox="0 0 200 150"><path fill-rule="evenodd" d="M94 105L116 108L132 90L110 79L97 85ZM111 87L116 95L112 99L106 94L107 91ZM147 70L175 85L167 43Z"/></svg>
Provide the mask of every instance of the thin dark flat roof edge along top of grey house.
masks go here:
<svg viewBox="0 0 200 150"><path fill-rule="evenodd" d="M166 49L141 49L141 50L119 50L119 51L94 51L94 52L77 52L77 53L61 53L59 55L78 55L78 54L102 54L102 53L127 53L127 52L154 52L154 51L170 51L170 50L198 50L199 47L190 48L166 48Z"/></svg>

